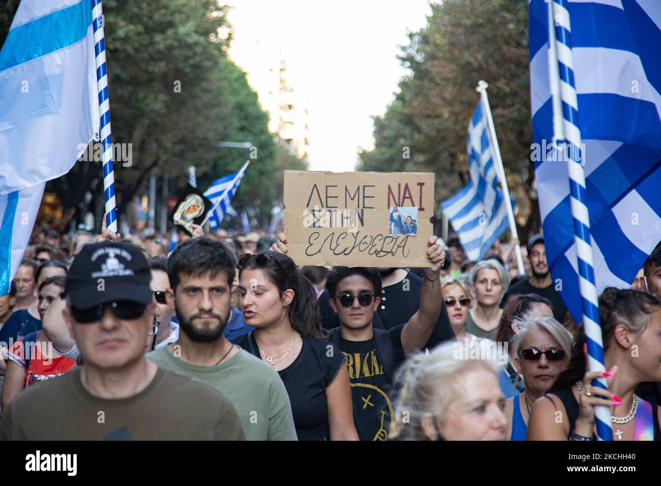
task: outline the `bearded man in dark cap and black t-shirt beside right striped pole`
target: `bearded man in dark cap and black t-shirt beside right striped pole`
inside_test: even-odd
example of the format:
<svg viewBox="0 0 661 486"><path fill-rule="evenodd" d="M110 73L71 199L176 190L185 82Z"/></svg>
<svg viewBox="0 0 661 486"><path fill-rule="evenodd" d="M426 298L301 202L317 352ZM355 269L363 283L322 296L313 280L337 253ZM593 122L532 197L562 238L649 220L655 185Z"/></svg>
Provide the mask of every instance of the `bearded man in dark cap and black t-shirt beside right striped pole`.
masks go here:
<svg viewBox="0 0 661 486"><path fill-rule="evenodd" d="M502 300L500 300L500 307L504 307L508 298L515 294L537 294L551 302L553 317L562 323L567 307L564 305L560 294L555 290L553 280L551 280L549 264L546 261L544 235L538 234L531 237L528 240L527 250L532 276L530 280L525 280L508 288Z"/></svg>

